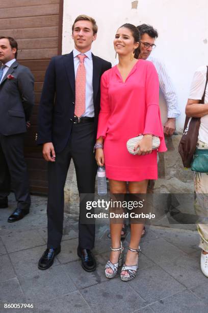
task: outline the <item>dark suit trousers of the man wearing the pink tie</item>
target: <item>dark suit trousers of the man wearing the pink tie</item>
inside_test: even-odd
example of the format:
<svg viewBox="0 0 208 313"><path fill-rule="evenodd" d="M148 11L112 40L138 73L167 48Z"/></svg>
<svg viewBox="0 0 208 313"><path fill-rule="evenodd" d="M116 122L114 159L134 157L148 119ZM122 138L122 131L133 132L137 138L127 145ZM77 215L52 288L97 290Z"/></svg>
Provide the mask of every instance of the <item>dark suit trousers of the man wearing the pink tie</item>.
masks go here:
<svg viewBox="0 0 208 313"><path fill-rule="evenodd" d="M71 159L73 160L77 188L81 198L79 217L79 246L92 249L95 239L95 224L83 223L86 201L93 200L97 164L93 153L94 122L73 124L70 138L64 150L56 152L56 161L48 163L48 239L47 248L57 248L63 235L64 186ZM83 197L83 195L86 195ZM82 214L81 214L82 213Z"/></svg>

